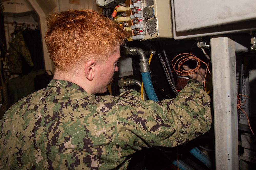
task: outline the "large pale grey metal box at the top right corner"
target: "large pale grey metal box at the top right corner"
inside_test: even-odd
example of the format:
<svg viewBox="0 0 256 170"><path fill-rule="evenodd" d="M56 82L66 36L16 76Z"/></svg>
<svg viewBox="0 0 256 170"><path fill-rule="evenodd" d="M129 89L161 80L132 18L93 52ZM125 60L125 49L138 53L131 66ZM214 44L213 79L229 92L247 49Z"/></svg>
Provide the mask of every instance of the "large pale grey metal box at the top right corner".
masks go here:
<svg viewBox="0 0 256 170"><path fill-rule="evenodd" d="M255 0L171 0L174 39L255 30Z"/></svg>

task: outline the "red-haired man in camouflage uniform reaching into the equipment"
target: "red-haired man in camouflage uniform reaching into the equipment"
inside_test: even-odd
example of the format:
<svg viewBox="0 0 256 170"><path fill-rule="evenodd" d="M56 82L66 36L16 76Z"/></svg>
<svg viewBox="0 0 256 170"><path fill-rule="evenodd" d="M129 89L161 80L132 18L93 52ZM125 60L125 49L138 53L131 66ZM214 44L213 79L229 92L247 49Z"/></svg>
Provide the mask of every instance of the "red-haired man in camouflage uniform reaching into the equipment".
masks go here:
<svg viewBox="0 0 256 170"><path fill-rule="evenodd" d="M1 120L0 169L126 169L142 147L174 147L210 129L203 69L175 99L143 102L135 90L94 95L106 92L118 70L126 36L93 10L52 16L45 41L54 80Z"/></svg>

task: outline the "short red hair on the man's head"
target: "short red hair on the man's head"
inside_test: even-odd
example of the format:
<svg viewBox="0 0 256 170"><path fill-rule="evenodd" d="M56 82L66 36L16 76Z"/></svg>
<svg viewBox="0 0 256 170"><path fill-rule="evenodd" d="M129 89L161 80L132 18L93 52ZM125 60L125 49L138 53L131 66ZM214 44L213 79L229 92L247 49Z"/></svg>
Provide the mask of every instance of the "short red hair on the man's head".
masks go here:
<svg viewBox="0 0 256 170"><path fill-rule="evenodd" d="M56 68L70 71L82 62L104 60L124 44L127 32L94 10L67 10L52 15L45 35ZM104 58L105 57L105 58Z"/></svg>

